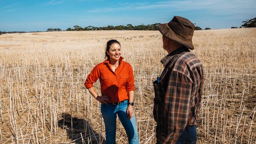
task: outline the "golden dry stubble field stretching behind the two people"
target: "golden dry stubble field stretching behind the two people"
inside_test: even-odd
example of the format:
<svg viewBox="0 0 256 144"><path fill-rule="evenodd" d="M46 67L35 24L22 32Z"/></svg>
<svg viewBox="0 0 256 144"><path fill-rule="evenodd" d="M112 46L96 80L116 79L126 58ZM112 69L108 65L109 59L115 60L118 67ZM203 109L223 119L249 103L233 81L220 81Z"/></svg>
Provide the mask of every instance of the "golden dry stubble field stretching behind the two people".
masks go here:
<svg viewBox="0 0 256 144"><path fill-rule="evenodd" d="M134 69L140 143L155 143L152 82L167 55L158 31L0 35L0 143L106 143L100 103L84 81L110 39ZM205 73L198 144L255 144L256 28L195 31L193 44ZM127 143L119 120L116 139Z"/></svg>

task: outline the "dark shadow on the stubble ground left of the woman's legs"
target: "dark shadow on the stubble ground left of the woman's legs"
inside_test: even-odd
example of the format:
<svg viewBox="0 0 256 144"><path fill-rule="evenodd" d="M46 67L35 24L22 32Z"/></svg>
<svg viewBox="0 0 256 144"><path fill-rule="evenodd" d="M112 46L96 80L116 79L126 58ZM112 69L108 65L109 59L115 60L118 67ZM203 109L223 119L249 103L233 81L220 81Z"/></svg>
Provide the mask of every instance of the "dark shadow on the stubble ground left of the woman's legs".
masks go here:
<svg viewBox="0 0 256 144"><path fill-rule="evenodd" d="M91 124L86 120L71 117L67 113L63 113L61 116L62 119L58 121L58 126L66 129L68 138L72 140L72 144L106 144L106 140L102 135L95 132Z"/></svg>

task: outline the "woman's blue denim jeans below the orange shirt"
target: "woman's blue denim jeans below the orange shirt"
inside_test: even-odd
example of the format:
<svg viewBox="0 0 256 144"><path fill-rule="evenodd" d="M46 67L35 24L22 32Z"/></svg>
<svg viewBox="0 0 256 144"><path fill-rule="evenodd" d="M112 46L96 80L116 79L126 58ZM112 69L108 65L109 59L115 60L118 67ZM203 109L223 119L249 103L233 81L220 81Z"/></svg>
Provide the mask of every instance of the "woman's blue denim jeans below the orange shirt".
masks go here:
<svg viewBox="0 0 256 144"><path fill-rule="evenodd" d="M119 105L114 105L113 103L101 104L101 113L104 119L106 127L106 143L115 144L115 134L117 126L117 115L124 126L126 131L129 144L139 144L139 137L137 132L137 125L135 120L135 114L129 120L127 119L126 110L128 107L128 100L120 103Z"/></svg>

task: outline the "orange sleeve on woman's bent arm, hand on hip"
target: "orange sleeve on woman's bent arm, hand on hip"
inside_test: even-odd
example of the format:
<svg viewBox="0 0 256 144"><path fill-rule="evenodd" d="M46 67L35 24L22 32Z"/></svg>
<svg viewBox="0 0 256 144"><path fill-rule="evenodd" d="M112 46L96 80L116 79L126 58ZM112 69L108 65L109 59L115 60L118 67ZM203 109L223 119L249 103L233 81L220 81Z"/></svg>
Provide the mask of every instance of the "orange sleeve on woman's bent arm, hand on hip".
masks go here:
<svg viewBox="0 0 256 144"><path fill-rule="evenodd" d="M95 83L99 77L100 77L100 68L98 65L96 65L91 71L91 73L87 76L87 79L85 80L85 83L84 83L85 88L89 89L93 87L93 83Z"/></svg>

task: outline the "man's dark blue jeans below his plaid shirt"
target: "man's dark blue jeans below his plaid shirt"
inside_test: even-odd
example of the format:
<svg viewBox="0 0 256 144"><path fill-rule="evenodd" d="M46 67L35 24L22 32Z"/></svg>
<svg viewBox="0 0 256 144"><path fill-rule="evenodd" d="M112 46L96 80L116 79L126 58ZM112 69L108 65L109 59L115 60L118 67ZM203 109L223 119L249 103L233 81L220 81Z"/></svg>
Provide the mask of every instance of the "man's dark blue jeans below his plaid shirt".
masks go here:
<svg viewBox="0 0 256 144"><path fill-rule="evenodd" d="M156 126L156 138L159 137L161 133L161 126ZM196 144L197 143L197 127L196 126L186 126L180 138L176 144ZM159 142L157 142L159 144Z"/></svg>

